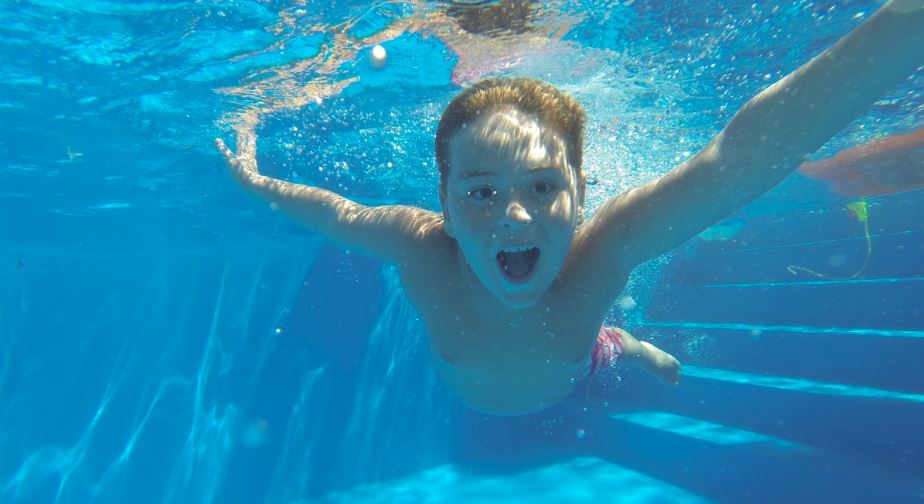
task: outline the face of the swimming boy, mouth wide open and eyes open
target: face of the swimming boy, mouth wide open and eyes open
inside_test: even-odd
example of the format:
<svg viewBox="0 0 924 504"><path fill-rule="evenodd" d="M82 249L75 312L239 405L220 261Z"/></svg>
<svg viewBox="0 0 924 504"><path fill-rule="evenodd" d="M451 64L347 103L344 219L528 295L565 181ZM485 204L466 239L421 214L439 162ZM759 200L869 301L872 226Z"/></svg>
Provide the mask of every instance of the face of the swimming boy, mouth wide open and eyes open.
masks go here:
<svg viewBox="0 0 924 504"><path fill-rule="evenodd" d="M571 249L580 209L565 142L533 116L479 116L449 144L446 231L482 284L508 306L546 292Z"/></svg>

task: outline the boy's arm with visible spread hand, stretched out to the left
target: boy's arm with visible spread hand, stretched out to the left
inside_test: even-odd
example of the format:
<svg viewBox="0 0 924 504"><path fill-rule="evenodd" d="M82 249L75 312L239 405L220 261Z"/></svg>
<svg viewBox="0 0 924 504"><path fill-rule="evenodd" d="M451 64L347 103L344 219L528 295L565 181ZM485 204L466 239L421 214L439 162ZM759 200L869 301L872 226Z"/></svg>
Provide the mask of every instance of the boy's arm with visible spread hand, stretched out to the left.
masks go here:
<svg viewBox="0 0 924 504"><path fill-rule="evenodd" d="M442 222L439 214L421 208L367 207L325 189L260 175L257 140L250 130L239 130L237 153L220 139L215 140L215 145L232 177L247 192L269 201L337 245L383 261L403 265L409 257L426 256L422 249L432 242L432 231Z"/></svg>

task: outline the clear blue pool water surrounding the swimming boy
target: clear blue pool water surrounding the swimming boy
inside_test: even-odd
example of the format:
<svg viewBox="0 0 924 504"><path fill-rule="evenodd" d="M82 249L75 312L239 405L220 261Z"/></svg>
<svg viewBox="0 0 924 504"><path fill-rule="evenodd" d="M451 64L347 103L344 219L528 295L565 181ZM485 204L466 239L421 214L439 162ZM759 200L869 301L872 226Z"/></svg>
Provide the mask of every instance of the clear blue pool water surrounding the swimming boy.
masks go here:
<svg viewBox="0 0 924 504"><path fill-rule="evenodd" d="M793 175L639 268L611 323L676 355L522 417L466 409L387 266L248 198L438 208L439 115L489 75L588 112L588 210L665 173L879 2L0 2L0 502L924 501L924 199L863 226ZM455 31L454 31L455 30ZM371 48L381 44L384 65ZM924 73L817 157L924 124ZM793 275L791 265L837 279Z"/></svg>

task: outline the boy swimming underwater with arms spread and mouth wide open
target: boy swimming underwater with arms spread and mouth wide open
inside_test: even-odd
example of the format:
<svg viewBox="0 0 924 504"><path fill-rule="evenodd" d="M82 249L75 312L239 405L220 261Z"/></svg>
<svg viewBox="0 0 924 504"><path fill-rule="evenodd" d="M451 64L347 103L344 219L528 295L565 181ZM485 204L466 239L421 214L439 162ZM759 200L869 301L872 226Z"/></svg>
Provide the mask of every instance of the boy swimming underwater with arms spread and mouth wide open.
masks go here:
<svg viewBox="0 0 924 504"><path fill-rule="evenodd" d="M437 372L464 402L525 414L564 399L595 361L618 353L617 341L633 347L601 323L635 266L782 181L924 64L921 47L924 0L890 0L748 102L694 157L586 222L583 111L534 80L483 81L449 104L436 138L442 214L365 207L260 175L249 130L239 131L237 154L216 143L248 192L397 266ZM650 345L626 350L658 373L676 372Z"/></svg>

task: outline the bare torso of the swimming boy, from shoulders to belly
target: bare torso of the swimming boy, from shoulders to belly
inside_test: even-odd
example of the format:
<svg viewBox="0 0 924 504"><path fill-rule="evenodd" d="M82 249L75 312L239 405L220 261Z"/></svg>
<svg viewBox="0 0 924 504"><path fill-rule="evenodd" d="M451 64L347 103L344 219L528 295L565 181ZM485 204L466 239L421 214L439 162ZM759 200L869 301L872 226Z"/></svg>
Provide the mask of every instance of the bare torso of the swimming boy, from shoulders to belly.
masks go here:
<svg viewBox="0 0 924 504"><path fill-rule="evenodd" d="M466 404L492 414L531 413L564 399L593 349L605 314L600 303L587 302L563 274L536 305L510 308L445 240L401 268L437 373Z"/></svg>

